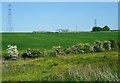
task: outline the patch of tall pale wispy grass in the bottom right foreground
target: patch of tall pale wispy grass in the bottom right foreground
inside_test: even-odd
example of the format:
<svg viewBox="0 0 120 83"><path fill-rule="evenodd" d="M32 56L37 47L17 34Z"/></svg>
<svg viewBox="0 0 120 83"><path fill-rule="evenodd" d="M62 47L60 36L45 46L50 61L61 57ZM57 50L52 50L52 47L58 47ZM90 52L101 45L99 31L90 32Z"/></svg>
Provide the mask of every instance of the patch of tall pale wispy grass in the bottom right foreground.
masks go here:
<svg viewBox="0 0 120 83"><path fill-rule="evenodd" d="M112 72L108 65L100 67L100 64L74 66L45 78L43 80L49 81L119 81L117 72Z"/></svg>

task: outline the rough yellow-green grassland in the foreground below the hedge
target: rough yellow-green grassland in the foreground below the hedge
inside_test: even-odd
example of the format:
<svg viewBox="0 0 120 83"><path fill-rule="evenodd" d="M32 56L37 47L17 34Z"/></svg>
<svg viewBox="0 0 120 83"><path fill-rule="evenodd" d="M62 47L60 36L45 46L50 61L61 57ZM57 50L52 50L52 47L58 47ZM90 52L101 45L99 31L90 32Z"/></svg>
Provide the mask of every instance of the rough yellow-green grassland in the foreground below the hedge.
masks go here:
<svg viewBox="0 0 120 83"><path fill-rule="evenodd" d="M3 81L119 81L118 52L3 61Z"/></svg>

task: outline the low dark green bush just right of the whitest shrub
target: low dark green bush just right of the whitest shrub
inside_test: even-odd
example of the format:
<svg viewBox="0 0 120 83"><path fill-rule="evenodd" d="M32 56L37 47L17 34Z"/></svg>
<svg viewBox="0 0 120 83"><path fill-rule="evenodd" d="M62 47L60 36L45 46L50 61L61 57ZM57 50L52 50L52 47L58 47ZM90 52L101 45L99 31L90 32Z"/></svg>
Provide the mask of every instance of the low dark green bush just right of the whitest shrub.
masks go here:
<svg viewBox="0 0 120 83"><path fill-rule="evenodd" d="M26 52L22 54L22 58L38 58L43 56L44 52L38 49L27 49Z"/></svg>

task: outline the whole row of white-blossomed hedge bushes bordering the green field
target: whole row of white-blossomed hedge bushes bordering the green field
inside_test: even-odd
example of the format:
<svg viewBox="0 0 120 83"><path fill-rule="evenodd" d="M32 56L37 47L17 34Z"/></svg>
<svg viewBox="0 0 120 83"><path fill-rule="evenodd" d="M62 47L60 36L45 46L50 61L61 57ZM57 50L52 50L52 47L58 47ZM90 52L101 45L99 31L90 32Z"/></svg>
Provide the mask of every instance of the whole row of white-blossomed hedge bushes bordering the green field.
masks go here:
<svg viewBox="0 0 120 83"><path fill-rule="evenodd" d="M58 55L67 55L67 54L76 54L76 53L90 53L90 52L103 52L110 51L114 48L120 48L120 43L115 44L113 40L99 41L95 40L93 44L89 43L77 43L68 48L62 49L61 46L53 46L52 51L41 51L38 49L27 49L21 55L22 58L38 58L44 56L58 56ZM16 45L9 45L7 49L7 55L4 56L5 59L17 59L18 50Z"/></svg>

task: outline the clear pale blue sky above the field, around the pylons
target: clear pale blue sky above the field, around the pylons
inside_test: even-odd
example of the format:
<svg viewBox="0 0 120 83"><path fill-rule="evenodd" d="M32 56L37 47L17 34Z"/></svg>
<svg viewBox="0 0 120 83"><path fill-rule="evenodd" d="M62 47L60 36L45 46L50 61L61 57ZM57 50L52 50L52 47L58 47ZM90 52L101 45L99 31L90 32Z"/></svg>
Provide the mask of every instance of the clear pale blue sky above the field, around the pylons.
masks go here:
<svg viewBox="0 0 120 83"><path fill-rule="evenodd" d="M2 31L8 24L8 4L12 6L12 27L15 32L91 31L108 25L118 29L117 2L2 2Z"/></svg>

